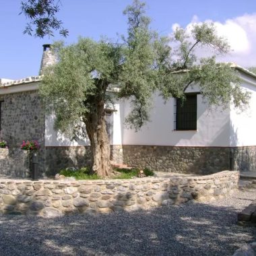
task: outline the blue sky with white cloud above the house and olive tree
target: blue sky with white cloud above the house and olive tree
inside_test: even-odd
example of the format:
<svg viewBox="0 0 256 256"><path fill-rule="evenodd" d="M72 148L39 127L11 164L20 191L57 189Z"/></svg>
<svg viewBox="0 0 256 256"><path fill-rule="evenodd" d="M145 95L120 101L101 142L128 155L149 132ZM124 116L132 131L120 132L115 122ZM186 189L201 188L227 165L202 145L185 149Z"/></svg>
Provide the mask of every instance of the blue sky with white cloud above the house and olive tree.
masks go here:
<svg viewBox="0 0 256 256"><path fill-rule="evenodd" d="M61 0L58 17L69 30L67 38L34 38L22 32L26 18L20 13L22 0L0 0L0 77L19 79L38 75L42 44L63 39L75 42L78 36L98 39L101 35L117 38L125 34L127 20L123 9L129 0ZM256 65L256 3L255 0L146 0L152 28L162 35L172 33L175 26L186 27L191 22L211 20L227 36L232 54L225 60L243 66Z"/></svg>

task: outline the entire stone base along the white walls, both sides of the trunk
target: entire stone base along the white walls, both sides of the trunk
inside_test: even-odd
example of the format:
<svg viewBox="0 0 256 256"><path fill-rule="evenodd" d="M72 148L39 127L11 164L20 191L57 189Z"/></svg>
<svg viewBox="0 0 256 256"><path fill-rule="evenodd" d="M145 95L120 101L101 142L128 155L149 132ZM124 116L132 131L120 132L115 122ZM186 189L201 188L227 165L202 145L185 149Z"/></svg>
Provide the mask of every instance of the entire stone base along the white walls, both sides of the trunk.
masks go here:
<svg viewBox="0 0 256 256"><path fill-rule="evenodd" d="M55 175L67 167L90 165L90 146L46 147L45 170ZM256 171L256 146L251 147L177 147L111 145L110 160L115 164L162 172L212 174L220 170Z"/></svg>

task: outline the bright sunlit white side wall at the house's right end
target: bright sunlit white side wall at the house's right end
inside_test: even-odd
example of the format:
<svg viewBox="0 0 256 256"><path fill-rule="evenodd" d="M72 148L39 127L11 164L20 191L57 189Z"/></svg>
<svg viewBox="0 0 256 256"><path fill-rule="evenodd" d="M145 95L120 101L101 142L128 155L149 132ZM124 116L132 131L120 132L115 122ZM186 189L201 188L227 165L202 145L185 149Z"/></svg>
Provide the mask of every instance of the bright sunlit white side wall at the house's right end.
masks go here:
<svg viewBox="0 0 256 256"><path fill-rule="evenodd" d="M251 92L249 108L241 112L231 107L230 146L256 146L256 82L248 75L242 75L242 86Z"/></svg>

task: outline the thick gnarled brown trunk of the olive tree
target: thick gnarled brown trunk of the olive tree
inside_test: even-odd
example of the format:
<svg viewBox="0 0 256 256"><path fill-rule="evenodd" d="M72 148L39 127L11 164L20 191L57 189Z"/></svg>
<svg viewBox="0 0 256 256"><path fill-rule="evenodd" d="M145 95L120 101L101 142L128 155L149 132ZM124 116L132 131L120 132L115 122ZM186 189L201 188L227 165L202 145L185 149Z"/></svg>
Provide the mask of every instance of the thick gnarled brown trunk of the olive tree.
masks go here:
<svg viewBox="0 0 256 256"><path fill-rule="evenodd" d="M104 119L104 102L98 102L94 111L87 115L85 123L91 143L92 171L100 177L108 177L111 171L110 146Z"/></svg>

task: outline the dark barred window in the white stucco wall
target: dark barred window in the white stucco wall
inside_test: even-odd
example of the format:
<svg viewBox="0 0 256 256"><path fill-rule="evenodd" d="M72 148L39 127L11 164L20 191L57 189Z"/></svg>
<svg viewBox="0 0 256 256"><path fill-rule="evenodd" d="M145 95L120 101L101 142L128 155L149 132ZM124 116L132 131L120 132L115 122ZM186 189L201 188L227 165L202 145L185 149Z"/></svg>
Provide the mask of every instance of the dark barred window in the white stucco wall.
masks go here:
<svg viewBox="0 0 256 256"><path fill-rule="evenodd" d="M197 94L187 94L184 101L177 98L176 129L197 129Z"/></svg>

